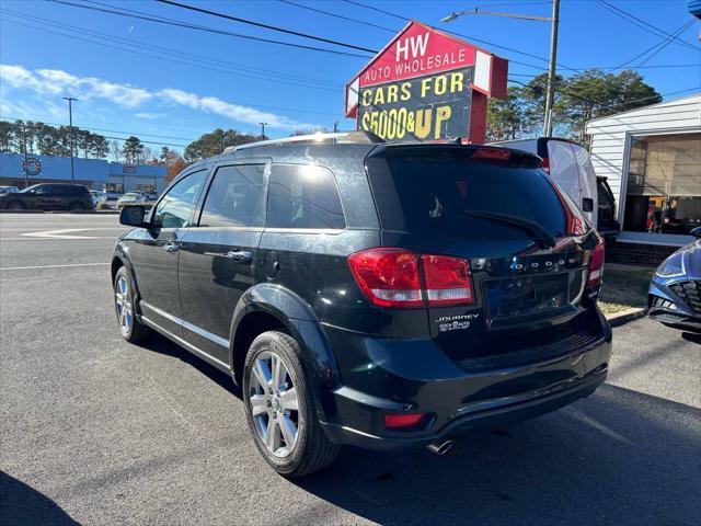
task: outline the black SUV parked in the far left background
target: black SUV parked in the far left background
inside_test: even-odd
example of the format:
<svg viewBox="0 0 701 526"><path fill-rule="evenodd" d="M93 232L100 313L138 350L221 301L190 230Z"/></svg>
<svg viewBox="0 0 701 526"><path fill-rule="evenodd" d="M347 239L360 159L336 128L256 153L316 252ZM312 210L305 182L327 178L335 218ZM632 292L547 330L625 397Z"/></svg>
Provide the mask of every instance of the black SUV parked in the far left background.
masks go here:
<svg viewBox="0 0 701 526"><path fill-rule="evenodd" d="M8 210L91 210L90 191L82 184L34 184L13 194L0 194Z"/></svg>

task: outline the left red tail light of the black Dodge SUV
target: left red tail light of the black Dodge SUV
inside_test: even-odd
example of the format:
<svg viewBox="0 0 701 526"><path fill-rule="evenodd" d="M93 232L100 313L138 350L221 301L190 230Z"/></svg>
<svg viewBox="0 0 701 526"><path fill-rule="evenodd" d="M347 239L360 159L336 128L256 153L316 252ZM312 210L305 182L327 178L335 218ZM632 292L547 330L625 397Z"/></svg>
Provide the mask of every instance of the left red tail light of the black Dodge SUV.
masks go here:
<svg viewBox="0 0 701 526"><path fill-rule="evenodd" d="M378 307L473 304L467 260L418 255L404 249L370 249L348 256L353 275Z"/></svg>

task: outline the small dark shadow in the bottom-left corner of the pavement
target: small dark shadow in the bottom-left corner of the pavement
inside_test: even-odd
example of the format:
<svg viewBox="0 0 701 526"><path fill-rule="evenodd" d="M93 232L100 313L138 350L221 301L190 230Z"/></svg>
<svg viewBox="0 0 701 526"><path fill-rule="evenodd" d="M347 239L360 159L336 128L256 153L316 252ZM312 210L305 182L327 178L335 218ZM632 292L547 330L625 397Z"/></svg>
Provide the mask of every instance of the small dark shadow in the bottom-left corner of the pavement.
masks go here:
<svg viewBox="0 0 701 526"><path fill-rule="evenodd" d="M0 471L0 523L3 526L79 524L48 496Z"/></svg>

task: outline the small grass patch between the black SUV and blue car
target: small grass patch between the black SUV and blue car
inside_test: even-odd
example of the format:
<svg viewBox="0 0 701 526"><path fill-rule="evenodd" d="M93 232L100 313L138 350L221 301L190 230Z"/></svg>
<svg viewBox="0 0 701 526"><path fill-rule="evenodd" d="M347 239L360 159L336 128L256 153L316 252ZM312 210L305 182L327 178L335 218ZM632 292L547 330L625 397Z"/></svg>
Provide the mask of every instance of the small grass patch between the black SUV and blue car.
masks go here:
<svg viewBox="0 0 701 526"><path fill-rule="evenodd" d="M605 268L599 307L612 315L633 307L647 307L647 287L653 268Z"/></svg>

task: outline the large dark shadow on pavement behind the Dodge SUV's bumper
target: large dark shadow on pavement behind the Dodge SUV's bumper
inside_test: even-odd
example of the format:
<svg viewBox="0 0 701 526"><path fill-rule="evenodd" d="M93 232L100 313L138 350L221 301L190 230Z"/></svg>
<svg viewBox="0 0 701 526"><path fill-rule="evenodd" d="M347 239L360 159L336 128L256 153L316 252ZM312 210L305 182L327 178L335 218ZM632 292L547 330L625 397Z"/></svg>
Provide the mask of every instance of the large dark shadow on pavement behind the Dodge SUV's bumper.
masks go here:
<svg viewBox="0 0 701 526"><path fill-rule="evenodd" d="M441 457L347 448L294 482L381 524L698 524L701 410L606 385Z"/></svg>

